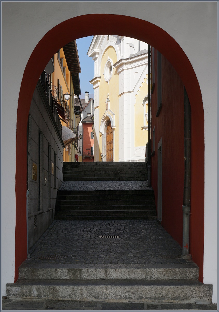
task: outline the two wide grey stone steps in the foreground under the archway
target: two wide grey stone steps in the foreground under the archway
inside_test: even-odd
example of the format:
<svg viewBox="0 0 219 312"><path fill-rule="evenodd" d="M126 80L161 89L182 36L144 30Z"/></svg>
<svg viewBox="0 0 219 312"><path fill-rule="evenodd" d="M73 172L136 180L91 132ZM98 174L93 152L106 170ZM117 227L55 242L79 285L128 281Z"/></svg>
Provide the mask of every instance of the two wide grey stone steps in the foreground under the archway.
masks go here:
<svg viewBox="0 0 219 312"><path fill-rule="evenodd" d="M22 264L8 299L211 304L198 266Z"/></svg>

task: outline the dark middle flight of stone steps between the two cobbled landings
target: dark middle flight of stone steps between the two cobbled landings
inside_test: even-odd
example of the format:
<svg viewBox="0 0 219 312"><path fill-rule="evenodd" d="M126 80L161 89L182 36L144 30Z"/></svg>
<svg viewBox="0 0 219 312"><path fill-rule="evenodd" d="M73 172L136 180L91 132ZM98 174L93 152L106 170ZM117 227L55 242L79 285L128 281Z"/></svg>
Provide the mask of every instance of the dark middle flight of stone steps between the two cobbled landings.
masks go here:
<svg viewBox="0 0 219 312"><path fill-rule="evenodd" d="M156 219L154 191L58 191L55 220L112 219Z"/></svg>

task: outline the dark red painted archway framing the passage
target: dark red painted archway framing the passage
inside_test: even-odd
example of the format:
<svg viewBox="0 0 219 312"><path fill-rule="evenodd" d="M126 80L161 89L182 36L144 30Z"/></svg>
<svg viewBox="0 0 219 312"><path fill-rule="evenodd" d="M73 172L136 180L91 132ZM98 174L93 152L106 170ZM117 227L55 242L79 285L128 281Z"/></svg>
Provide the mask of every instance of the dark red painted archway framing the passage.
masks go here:
<svg viewBox="0 0 219 312"><path fill-rule="evenodd" d="M158 26L134 17L90 14L71 18L52 28L36 45L21 81L16 136L16 229L15 281L18 267L26 259L26 129L31 99L40 74L60 47L81 37L122 34L145 41L159 50L174 66L188 93L191 105L191 202L190 252L203 280L204 245L204 111L201 90L193 67L179 44ZM94 21L101 30L97 31ZM174 27L174 25L173 25Z"/></svg>

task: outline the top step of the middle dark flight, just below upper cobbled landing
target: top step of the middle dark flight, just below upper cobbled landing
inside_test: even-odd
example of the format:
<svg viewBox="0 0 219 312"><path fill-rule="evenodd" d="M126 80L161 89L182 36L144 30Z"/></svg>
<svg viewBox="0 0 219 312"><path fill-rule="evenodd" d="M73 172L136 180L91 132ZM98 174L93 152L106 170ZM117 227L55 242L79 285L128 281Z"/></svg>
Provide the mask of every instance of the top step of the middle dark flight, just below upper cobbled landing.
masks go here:
<svg viewBox="0 0 219 312"><path fill-rule="evenodd" d="M92 191L58 191L57 196L62 195L154 195L154 190L92 190Z"/></svg>

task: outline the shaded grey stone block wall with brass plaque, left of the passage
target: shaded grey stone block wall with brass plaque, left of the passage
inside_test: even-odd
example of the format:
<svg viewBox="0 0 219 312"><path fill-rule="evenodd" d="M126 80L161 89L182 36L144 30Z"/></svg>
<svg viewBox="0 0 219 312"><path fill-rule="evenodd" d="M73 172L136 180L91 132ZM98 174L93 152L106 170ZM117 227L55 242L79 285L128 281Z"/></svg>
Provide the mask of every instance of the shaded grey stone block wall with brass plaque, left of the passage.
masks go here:
<svg viewBox="0 0 219 312"><path fill-rule="evenodd" d="M54 127L40 85L33 94L28 125L28 244L29 248L54 219L57 190L63 180L63 143ZM56 158L56 177L55 177ZM33 163L37 179L33 179ZM52 163L54 173L52 173Z"/></svg>

